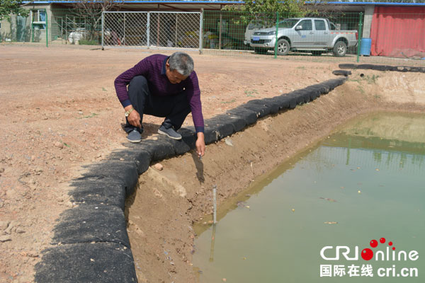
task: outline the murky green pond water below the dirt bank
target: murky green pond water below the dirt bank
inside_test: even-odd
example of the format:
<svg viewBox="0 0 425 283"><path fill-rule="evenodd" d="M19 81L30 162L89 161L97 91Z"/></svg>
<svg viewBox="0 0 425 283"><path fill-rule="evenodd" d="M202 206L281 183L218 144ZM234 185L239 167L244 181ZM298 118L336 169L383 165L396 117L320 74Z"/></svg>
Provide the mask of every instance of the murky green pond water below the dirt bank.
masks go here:
<svg viewBox="0 0 425 283"><path fill-rule="evenodd" d="M380 113L282 164L219 211L215 228L196 227L203 231L193 255L200 282L425 282L424 142L424 115ZM353 257L358 246L358 260L324 260L325 246L334 247L328 258L336 246ZM386 256L387 247L390 260L361 258L364 248ZM392 247L419 258L398 261L395 253L392 261ZM409 272L418 275L403 277Z"/></svg>

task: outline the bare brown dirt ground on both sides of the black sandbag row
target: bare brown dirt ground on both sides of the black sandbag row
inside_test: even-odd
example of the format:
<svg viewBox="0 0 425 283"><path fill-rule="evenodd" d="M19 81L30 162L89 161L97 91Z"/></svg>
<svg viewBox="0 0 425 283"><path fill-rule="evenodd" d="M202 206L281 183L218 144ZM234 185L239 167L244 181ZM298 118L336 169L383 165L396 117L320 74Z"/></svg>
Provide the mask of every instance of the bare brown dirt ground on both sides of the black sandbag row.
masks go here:
<svg viewBox="0 0 425 283"><path fill-rule="evenodd" d="M113 80L157 52L0 45L0 282L33 282L34 265L50 244L56 219L74 205L68 181L81 166L126 142ZM189 53L205 118L251 99L333 79L331 71L345 62ZM313 103L234 134L232 147L224 141L208 146L202 162L186 154L162 162L163 171L149 168L127 209L140 282L196 281L192 224L210 213L212 184L222 188L221 203L357 113L424 110L424 74L360 73ZM161 122L145 117L143 137L154 137ZM192 125L191 117L185 125ZM173 261L164 258L164 250Z"/></svg>

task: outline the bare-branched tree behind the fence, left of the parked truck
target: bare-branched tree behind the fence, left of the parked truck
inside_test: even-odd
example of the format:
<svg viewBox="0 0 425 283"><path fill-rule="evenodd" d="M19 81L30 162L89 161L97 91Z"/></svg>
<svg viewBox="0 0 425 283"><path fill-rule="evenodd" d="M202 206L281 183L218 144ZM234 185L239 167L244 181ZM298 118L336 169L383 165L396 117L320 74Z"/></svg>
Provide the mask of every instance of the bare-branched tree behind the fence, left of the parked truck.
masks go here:
<svg viewBox="0 0 425 283"><path fill-rule="evenodd" d="M85 29L89 32L89 38L86 39L96 38L101 26L102 12L118 10L122 4L123 1L117 0L80 0L74 3L74 11L86 20Z"/></svg>

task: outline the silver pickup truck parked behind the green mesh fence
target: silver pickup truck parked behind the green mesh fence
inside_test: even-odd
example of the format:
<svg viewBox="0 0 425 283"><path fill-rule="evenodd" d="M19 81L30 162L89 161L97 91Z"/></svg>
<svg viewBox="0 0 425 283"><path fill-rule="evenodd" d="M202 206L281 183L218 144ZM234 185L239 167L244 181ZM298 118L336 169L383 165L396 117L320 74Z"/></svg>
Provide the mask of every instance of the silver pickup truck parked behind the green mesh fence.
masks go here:
<svg viewBox="0 0 425 283"><path fill-rule="evenodd" d="M278 23L279 55L290 51L308 51L314 55L332 51L343 57L348 47L356 46L357 30L338 30L327 18L287 18ZM254 31L249 45L255 52L274 50L276 26Z"/></svg>

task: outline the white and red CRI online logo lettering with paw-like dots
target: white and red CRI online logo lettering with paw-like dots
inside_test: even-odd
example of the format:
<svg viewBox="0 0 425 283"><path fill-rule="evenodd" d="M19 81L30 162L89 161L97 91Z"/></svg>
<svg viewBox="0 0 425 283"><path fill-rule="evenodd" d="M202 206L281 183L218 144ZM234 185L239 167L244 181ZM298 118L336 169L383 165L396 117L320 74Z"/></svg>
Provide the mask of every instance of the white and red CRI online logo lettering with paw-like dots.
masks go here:
<svg viewBox="0 0 425 283"><path fill-rule="evenodd" d="M385 244L387 240L385 238L380 238L379 242L381 244ZM372 240L370 241L370 247L376 248L378 247L378 241ZM375 255L375 260L381 260L381 261L395 261L395 260L417 260L419 258L419 253L416 250L410 250L409 253L407 253L404 250L399 250L397 253L395 252L395 246L393 246L392 241L389 241L387 243L387 246L385 252L382 250L375 251L373 253L373 250L370 248L364 248L361 251L361 258L363 260L371 260L373 259L373 256ZM390 248L392 251L390 251ZM329 251L327 251L329 250ZM329 253L334 252L334 257L330 257ZM325 252L327 255L325 255ZM354 247L353 253L351 253L351 250L348 246L326 246L320 250L320 255L324 260L339 260L340 254L346 259L346 260L358 260L358 246Z"/></svg>

